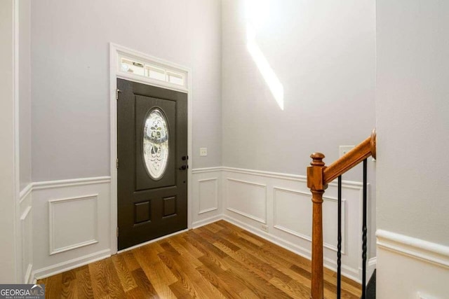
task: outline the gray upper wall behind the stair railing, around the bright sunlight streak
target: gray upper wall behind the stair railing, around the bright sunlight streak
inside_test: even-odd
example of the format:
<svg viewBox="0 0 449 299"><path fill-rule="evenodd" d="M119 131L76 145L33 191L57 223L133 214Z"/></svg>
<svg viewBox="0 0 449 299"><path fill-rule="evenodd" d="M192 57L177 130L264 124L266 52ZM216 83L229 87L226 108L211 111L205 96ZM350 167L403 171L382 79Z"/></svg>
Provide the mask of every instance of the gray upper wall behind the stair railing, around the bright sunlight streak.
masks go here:
<svg viewBox="0 0 449 299"><path fill-rule="evenodd" d="M248 24L283 85L283 110L248 50ZM305 175L311 153L330 164L375 127L375 1L223 0L222 45L224 166ZM375 167L369 160L370 256Z"/></svg>

